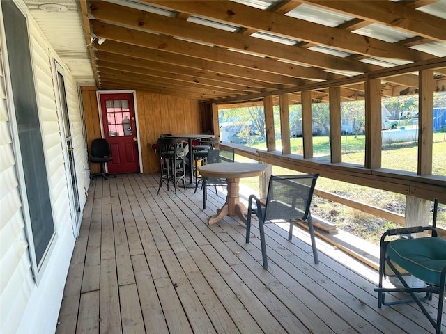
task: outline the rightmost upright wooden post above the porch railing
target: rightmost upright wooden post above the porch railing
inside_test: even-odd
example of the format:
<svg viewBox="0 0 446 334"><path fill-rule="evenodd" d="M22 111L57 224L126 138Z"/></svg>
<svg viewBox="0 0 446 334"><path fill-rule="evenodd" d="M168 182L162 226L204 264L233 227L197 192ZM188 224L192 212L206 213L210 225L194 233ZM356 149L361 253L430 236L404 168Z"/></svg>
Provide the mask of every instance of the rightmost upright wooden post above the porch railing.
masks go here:
<svg viewBox="0 0 446 334"><path fill-rule="evenodd" d="M419 74L418 104L418 175L432 174L433 142L433 70L421 70Z"/></svg>

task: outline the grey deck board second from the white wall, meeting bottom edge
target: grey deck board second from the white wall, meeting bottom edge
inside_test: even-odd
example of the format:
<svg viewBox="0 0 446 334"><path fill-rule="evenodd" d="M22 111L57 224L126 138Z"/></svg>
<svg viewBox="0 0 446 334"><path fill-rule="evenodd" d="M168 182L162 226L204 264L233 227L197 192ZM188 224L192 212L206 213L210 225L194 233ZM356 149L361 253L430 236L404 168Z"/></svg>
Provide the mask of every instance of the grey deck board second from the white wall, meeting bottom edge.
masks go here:
<svg viewBox="0 0 446 334"><path fill-rule="evenodd" d="M76 333L97 334L99 331L99 291L86 292L81 295L79 319ZM61 332L62 333L62 332Z"/></svg>

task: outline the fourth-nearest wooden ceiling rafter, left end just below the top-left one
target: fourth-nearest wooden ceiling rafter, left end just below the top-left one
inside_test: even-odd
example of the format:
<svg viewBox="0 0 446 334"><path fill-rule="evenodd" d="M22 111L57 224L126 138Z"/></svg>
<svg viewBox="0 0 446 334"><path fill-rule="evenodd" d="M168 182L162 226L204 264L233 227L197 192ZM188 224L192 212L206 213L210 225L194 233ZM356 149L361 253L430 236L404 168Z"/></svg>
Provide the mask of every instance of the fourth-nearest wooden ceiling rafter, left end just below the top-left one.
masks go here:
<svg viewBox="0 0 446 334"><path fill-rule="evenodd" d="M115 40L139 47L162 49L174 54L183 54L196 58L217 61L219 63L247 67L268 73L282 74L289 77L302 79L331 80L343 76L332 74L314 67L299 66L291 63L279 62L274 59L261 58L240 52L229 51L221 47L208 47L193 42L178 40L166 35L155 35L143 31L132 30L122 26L107 24L104 22L91 22L93 31L108 40Z"/></svg>

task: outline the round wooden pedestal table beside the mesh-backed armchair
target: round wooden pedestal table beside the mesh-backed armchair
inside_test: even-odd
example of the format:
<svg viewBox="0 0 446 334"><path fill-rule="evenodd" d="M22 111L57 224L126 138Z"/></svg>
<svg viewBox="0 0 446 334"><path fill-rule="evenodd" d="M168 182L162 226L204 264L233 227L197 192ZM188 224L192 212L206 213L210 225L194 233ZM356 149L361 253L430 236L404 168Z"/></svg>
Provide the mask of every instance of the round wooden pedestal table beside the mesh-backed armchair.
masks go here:
<svg viewBox="0 0 446 334"><path fill-rule="evenodd" d="M240 203L240 178L259 176L266 170L265 164L249 164L238 162L219 162L207 164L198 168L200 175L204 177L224 177L228 182L228 194L226 202L217 214L208 218L208 224L212 225L221 221L224 216L238 216L243 223L247 220L247 208Z"/></svg>

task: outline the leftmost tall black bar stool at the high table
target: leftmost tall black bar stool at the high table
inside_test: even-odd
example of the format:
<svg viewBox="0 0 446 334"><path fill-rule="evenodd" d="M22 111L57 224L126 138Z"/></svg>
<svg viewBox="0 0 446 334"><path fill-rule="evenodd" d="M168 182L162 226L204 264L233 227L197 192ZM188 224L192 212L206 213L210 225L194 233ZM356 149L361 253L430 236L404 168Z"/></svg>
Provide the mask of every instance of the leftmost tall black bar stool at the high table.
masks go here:
<svg viewBox="0 0 446 334"><path fill-rule="evenodd" d="M186 190L184 157L187 152L183 148L183 143L176 141L175 138L160 137L157 144L161 167L160 185L158 186L157 195L160 193L164 182L167 184L167 190L169 190L169 182L172 182L176 195L176 186L180 180L183 181L184 190Z"/></svg>

